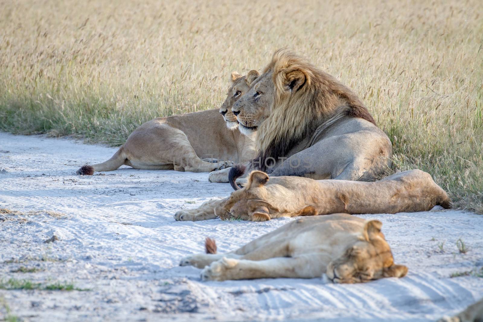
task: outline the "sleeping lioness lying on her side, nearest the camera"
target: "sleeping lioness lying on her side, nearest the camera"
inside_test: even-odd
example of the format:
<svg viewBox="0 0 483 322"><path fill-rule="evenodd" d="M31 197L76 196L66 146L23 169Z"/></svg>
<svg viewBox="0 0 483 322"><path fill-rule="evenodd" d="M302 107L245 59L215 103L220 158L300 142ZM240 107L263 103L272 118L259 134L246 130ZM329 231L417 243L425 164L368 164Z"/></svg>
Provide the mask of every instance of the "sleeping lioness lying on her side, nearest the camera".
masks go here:
<svg viewBox="0 0 483 322"><path fill-rule="evenodd" d="M403 277L408 268L394 264L381 226L345 213L298 219L234 252L193 255L180 265L206 266L203 280L311 279L326 273L333 283L361 283Z"/></svg>

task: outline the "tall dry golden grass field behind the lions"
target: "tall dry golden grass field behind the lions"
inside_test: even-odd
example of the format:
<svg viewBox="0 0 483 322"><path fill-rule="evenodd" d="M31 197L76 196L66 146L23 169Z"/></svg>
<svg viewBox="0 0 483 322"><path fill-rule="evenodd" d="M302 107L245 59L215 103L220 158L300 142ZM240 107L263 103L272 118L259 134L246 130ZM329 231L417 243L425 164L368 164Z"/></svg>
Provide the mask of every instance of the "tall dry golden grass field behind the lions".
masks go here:
<svg viewBox="0 0 483 322"><path fill-rule="evenodd" d="M329 3L330 2L330 3ZM0 129L119 145L218 107L232 70L292 47L364 98L455 206L483 213L483 2L0 0Z"/></svg>

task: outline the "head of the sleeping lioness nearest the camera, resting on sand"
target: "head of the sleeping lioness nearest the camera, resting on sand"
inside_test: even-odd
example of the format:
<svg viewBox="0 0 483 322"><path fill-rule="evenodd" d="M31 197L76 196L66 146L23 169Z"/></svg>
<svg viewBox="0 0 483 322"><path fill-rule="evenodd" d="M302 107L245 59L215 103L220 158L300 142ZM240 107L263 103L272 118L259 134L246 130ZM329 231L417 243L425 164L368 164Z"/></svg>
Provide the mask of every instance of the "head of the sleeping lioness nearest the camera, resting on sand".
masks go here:
<svg viewBox="0 0 483 322"><path fill-rule="evenodd" d="M327 278L334 283L363 283L384 277L404 277L408 267L394 264L389 245L378 220L366 222L359 240L327 266Z"/></svg>

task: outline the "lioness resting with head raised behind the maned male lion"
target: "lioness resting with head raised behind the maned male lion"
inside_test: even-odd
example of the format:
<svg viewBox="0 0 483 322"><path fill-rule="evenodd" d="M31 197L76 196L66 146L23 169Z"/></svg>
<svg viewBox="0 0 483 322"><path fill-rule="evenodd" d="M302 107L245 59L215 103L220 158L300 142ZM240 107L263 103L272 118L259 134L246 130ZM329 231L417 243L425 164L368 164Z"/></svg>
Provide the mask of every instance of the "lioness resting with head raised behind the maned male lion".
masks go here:
<svg viewBox="0 0 483 322"><path fill-rule="evenodd" d="M256 154L253 138L237 130L236 117L231 113L233 103L248 90L248 80L233 72L231 81L228 97L220 110L148 121L132 132L109 160L82 166L76 173L92 175L94 171L112 171L122 165L136 169L210 172L253 158Z"/></svg>

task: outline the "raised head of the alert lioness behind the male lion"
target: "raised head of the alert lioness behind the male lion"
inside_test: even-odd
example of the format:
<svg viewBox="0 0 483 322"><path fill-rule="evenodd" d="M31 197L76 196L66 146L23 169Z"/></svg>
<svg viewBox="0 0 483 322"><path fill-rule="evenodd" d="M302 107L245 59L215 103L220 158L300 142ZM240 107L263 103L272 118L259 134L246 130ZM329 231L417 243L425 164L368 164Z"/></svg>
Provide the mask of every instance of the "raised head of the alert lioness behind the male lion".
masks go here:
<svg viewBox="0 0 483 322"><path fill-rule="evenodd" d="M237 117L231 111L233 104L241 98L250 88L250 83L253 81L253 76L258 74L258 71L251 70L249 75L241 76L236 71L231 73L231 86L228 89L227 98L220 107L220 113L227 122L227 127L234 130L238 127Z"/></svg>

